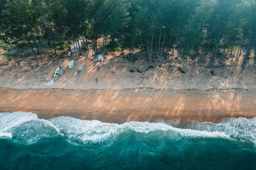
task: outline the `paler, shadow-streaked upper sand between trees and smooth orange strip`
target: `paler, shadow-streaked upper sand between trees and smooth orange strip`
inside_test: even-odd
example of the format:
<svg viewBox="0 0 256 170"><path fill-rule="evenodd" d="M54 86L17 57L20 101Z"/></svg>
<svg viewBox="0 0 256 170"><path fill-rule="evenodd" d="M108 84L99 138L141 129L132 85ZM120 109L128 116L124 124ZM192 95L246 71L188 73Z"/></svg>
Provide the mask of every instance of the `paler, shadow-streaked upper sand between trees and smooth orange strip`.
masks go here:
<svg viewBox="0 0 256 170"><path fill-rule="evenodd" d="M3 53L3 51L1 52ZM236 57L219 57L216 61L215 73L211 74L211 67L207 62L201 62L200 67L195 60L185 62L184 71L181 73L179 67L182 61L173 60L170 67L169 62L153 62L153 68L149 63L145 52L135 54L137 59L133 64L129 59L114 57L120 52L108 52L103 64L93 66L93 61L84 60L84 56L78 56L76 52L72 57L49 58L46 55L38 55L39 66L33 57L22 60L19 64L8 61L0 53L0 87L10 89L171 89L171 90L210 90L210 89L256 89L256 64L252 59L247 60L244 69L241 69L243 55ZM176 55L176 54L175 54ZM74 60L74 68L67 69L70 60ZM65 68L62 77L54 78L56 67ZM79 67L83 66L83 72L73 76ZM133 73L131 72L133 70ZM49 81L54 85L47 87Z"/></svg>

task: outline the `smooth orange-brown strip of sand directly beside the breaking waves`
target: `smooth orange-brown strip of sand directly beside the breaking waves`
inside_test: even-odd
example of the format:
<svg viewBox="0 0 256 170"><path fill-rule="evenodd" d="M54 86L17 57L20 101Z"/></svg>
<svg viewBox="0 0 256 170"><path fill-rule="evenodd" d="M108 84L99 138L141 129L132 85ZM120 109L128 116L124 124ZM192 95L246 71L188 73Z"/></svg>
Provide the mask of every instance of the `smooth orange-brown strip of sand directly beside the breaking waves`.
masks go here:
<svg viewBox="0 0 256 170"><path fill-rule="evenodd" d="M15 90L0 88L0 110L40 118L60 116L109 123L256 117L256 90Z"/></svg>

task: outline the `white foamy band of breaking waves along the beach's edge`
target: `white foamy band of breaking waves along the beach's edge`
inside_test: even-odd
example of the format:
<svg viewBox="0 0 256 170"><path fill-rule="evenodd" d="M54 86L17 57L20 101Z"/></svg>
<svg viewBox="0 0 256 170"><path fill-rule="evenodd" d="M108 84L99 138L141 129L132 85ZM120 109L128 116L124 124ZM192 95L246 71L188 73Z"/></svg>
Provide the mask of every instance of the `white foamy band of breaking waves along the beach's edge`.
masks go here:
<svg viewBox="0 0 256 170"><path fill-rule="evenodd" d="M176 122L177 123L177 122ZM43 139L63 136L73 143L104 144L122 133L149 134L164 132L166 138L226 138L256 142L256 118L229 118L220 124L196 122L186 129L173 127L168 121L155 123L127 122L109 124L98 120L79 120L72 117L40 119L35 113L14 112L0 115L0 136L8 136L22 143L38 143Z"/></svg>

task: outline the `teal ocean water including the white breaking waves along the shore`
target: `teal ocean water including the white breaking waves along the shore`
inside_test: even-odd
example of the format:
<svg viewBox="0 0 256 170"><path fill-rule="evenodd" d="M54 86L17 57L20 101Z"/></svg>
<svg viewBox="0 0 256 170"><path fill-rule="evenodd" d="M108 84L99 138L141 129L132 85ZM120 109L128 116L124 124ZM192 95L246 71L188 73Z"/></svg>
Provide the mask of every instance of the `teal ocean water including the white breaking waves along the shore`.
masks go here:
<svg viewBox="0 0 256 170"><path fill-rule="evenodd" d="M256 169L256 118L108 124L0 113L0 169Z"/></svg>

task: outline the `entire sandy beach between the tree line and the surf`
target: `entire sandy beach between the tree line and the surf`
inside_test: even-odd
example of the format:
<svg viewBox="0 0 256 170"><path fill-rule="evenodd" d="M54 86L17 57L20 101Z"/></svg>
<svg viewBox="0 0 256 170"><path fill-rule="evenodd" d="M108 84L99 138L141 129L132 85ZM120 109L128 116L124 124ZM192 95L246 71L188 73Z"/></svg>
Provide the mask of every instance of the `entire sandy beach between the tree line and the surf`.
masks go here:
<svg viewBox="0 0 256 170"><path fill-rule="evenodd" d="M0 110L116 123L157 118L218 122L225 117L256 116L253 59L244 70L243 56L217 60L212 76L207 63L198 67L198 62L186 61L186 74L182 74L177 69L180 60L174 60L172 67L168 62L154 62L154 68L148 69L147 60L136 60L132 67L129 60L115 55L109 52L100 70L76 53L70 59L38 56L39 67L32 58L19 66L0 56ZM67 68L72 59L74 69L53 78L56 67ZM79 66L84 67L83 73L73 76ZM45 86L49 81L54 81L52 87Z"/></svg>

